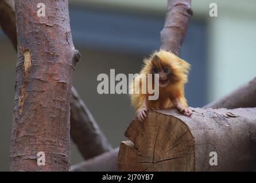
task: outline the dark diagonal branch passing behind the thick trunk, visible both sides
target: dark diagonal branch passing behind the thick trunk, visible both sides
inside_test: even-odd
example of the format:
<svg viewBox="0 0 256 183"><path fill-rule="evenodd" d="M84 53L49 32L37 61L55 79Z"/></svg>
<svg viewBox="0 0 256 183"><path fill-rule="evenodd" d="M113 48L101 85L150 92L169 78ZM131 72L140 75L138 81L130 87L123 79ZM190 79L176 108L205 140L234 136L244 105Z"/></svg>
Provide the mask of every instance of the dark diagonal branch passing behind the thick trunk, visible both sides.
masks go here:
<svg viewBox="0 0 256 183"><path fill-rule="evenodd" d="M15 10L13 0L0 2L0 24L17 49ZM92 117L90 111L84 105L75 88L71 97L71 138L77 145L85 160L97 156L111 149L110 142L99 129L98 124ZM88 146L85 144L95 144Z"/></svg>

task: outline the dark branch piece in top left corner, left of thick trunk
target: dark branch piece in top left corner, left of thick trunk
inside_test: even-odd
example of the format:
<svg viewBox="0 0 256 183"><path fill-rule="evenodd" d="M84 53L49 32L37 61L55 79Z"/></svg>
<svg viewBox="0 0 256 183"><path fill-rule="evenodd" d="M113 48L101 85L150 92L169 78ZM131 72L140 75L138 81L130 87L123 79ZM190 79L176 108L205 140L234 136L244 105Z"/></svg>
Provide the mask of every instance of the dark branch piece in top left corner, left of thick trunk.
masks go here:
<svg viewBox="0 0 256 183"><path fill-rule="evenodd" d="M0 25L17 50L16 22L13 0L0 1Z"/></svg>

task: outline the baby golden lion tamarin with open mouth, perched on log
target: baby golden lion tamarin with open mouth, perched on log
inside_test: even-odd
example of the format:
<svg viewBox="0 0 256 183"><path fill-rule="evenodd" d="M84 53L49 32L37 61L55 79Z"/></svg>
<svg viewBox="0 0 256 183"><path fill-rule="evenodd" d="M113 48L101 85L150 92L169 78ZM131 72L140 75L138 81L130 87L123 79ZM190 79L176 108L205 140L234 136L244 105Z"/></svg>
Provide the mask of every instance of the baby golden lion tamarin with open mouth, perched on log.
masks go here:
<svg viewBox="0 0 256 183"><path fill-rule="evenodd" d="M181 113L191 116L192 111L188 109L187 100L184 96L184 84L188 81L189 63L177 57L170 51L155 51L149 58L143 60L144 65L134 82L130 83L129 93L131 104L136 109L138 120L146 118L148 110L176 108ZM157 100L149 100L149 92L135 93L135 87L142 88L142 75L158 75L159 96ZM148 84L148 82L146 82ZM154 77L152 85L154 85ZM147 87L148 88L148 87Z"/></svg>

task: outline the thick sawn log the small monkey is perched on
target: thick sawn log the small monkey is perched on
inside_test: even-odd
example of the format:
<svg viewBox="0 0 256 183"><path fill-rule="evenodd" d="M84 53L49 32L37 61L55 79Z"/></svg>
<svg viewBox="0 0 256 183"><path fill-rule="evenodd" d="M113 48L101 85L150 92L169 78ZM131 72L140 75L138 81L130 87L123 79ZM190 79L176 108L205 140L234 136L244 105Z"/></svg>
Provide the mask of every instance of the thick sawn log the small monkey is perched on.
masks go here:
<svg viewBox="0 0 256 183"><path fill-rule="evenodd" d="M256 161L256 108L150 111L133 120L121 142L121 171L246 171ZM210 165L210 153L217 165Z"/></svg>

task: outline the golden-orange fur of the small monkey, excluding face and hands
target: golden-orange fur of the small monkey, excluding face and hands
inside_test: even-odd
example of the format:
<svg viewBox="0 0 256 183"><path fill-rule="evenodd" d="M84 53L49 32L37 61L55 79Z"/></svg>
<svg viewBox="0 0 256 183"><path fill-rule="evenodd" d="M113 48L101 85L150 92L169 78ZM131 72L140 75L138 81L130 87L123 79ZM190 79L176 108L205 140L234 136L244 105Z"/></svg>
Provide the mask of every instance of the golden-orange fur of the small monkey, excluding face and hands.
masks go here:
<svg viewBox="0 0 256 183"><path fill-rule="evenodd" d="M158 56L160 61L154 62ZM131 104L134 106L136 112L139 109L146 107L148 109L169 109L173 108L173 100L178 99L180 104L187 108L187 100L184 96L184 84L188 81L188 72L190 69L189 63L177 57L173 53L165 50L154 51L149 58L143 60L144 65L139 75L129 85ZM148 92L146 94L134 94L135 87L141 88L141 74L153 74L153 68L168 67L170 74L168 79L170 82L166 87L159 88L158 100L148 100ZM145 105L146 102L146 106Z"/></svg>

